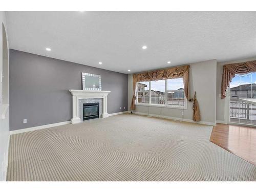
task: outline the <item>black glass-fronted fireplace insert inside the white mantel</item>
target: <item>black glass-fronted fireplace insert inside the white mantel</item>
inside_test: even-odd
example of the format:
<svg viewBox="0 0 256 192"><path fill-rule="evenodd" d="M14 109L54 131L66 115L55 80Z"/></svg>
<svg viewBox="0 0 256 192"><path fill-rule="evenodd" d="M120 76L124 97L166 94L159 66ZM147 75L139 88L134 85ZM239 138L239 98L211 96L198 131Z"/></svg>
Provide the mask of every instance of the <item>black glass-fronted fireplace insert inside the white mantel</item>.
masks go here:
<svg viewBox="0 0 256 192"><path fill-rule="evenodd" d="M99 118L99 103L83 103L83 121L88 119Z"/></svg>

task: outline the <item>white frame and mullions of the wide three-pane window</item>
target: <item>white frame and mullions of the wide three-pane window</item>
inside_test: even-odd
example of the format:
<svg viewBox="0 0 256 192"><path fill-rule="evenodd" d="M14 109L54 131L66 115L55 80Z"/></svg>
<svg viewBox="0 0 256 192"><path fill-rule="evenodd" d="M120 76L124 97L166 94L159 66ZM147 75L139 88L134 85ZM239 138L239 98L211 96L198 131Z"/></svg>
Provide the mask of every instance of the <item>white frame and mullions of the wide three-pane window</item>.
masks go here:
<svg viewBox="0 0 256 192"><path fill-rule="evenodd" d="M162 107L162 108L173 108L173 109L182 109L182 110L186 110L187 109L187 99L186 99L186 96L184 94L184 105L172 105L172 104L167 104L167 92L168 91L171 91L171 90L167 90L168 88L168 79L165 79L165 95L164 95L164 101L165 101L165 104L153 104L151 103L151 81L148 81L149 82L149 95L148 95L148 103L138 103L138 91L137 91L137 86L138 86L138 83L140 82L137 82L136 83L136 103L135 105L141 105L141 106L156 106L156 107Z"/></svg>

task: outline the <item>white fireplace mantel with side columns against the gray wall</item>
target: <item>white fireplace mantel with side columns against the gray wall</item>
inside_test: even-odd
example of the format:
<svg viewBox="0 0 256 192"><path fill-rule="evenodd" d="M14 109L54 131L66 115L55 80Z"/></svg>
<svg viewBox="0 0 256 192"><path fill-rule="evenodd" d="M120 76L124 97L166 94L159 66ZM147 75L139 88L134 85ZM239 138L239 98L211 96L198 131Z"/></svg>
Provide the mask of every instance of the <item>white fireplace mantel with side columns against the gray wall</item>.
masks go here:
<svg viewBox="0 0 256 192"><path fill-rule="evenodd" d="M73 118L72 123L80 123L79 118L79 99L102 99L102 118L109 117L107 111L108 94L110 91L87 91L87 90L69 90L73 97Z"/></svg>

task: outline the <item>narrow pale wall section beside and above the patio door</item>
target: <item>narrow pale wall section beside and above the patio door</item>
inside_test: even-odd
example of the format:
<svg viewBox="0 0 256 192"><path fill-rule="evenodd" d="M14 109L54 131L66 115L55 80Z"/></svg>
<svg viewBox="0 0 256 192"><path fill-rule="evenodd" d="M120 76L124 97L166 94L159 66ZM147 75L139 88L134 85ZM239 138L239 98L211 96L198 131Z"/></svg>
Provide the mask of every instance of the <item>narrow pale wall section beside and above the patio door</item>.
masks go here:
<svg viewBox="0 0 256 192"><path fill-rule="evenodd" d="M227 98L221 99L221 81L222 81L223 66L230 64L230 63L246 62L246 61L251 61L251 60L256 60L256 57L217 63L217 102L216 102L216 104L217 104L216 105L217 122L227 123L228 118L229 118L228 112L226 111L226 113L225 113L225 110L228 110L228 109L225 109L225 103L226 103L226 108L229 107L228 99ZM225 117L225 115L226 115L226 117Z"/></svg>

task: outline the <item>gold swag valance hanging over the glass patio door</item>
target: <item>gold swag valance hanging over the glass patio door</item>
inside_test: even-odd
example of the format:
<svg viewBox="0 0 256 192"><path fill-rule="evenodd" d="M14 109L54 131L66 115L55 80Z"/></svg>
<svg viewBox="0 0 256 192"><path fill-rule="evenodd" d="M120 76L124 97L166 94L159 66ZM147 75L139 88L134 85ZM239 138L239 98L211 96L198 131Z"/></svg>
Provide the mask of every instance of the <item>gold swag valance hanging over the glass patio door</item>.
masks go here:
<svg viewBox="0 0 256 192"><path fill-rule="evenodd" d="M236 74L242 75L251 72L256 72L256 60L224 65L221 82L221 98L224 99L226 97L227 87L229 87L229 83Z"/></svg>

